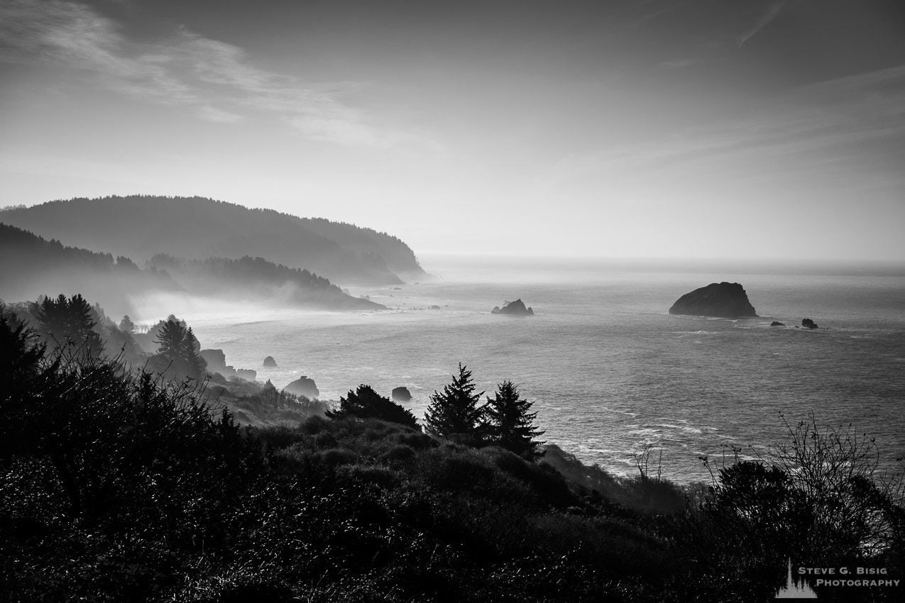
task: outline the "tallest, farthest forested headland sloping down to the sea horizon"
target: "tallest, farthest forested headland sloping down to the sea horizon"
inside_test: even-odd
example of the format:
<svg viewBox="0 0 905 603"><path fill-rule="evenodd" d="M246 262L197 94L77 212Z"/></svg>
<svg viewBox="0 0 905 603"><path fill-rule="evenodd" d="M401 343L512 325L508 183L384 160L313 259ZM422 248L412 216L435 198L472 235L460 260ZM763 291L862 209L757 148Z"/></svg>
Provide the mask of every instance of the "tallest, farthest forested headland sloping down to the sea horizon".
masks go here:
<svg viewBox="0 0 905 603"><path fill-rule="evenodd" d="M342 284L424 278L414 252L383 232L202 197L129 196L52 201L0 212L0 221L143 262L262 257Z"/></svg>

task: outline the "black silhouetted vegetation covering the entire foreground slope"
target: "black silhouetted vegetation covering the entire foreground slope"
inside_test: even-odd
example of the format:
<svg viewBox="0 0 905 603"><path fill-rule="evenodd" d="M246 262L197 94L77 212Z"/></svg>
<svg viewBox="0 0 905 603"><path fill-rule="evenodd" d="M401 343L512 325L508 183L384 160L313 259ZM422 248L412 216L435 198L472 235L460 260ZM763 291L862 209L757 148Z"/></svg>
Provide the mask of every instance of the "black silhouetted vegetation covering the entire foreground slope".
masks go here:
<svg viewBox="0 0 905 603"><path fill-rule="evenodd" d="M0 312L0 600L764 601L789 558L902 578L898 483L872 440L813 417L688 486L649 449L620 478L540 448L518 388L481 403L464 366L428 433L367 385L329 417L242 428L211 397L230 384L78 344L103 318L63 299L47 307L81 316L71 344ZM157 355L195 351L163 323Z"/></svg>

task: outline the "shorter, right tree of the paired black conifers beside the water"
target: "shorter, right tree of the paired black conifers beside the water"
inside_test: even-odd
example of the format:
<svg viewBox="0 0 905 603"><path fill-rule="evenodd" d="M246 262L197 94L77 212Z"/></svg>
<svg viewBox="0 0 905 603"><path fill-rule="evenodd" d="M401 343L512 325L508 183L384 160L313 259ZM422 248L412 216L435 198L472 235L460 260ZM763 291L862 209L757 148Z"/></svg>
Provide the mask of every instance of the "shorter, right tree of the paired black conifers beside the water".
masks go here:
<svg viewBox="0 0 905 603"><path fill-rule="evenodd" d="M530 412L531 402L519 398L518 386L506 380L497 386L494 398L487 397L484 410L487 438L529 460L543 456L538 450L543 442L535 440L543 431L534 426L537 412Z"/></svg>

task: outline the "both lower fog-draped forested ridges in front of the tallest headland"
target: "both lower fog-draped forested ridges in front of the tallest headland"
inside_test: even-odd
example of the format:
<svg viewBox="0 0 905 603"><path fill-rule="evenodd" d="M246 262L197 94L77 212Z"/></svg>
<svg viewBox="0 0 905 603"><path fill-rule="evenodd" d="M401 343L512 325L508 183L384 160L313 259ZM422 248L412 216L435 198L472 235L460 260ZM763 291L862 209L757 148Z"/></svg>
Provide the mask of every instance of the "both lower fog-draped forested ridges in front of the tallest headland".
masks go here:
<svg viewBox="0 0 905 603"><path fill-rule="evenodd" d="M0 214L2 215L2 214ZM131 259L66 247L32 232L0 223L0 298L81 293L110 316L133 313L133 301L152 293L265 301L327 310L378 310L384 306L350 297L308 270L262 258L205 260L158 255L141 269ZM134 316L134 315L133 315Z"/></svg>

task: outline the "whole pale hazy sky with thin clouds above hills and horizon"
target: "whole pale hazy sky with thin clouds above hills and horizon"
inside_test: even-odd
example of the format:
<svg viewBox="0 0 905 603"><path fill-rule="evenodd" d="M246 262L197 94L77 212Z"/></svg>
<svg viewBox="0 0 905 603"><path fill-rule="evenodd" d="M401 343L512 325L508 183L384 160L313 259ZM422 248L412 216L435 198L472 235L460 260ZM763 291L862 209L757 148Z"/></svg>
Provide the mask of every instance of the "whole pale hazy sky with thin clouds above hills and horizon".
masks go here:
<svg viewBox="0 0 905 603"><path fill-rule="evenodd" d="M0 206L200 195L419 256L905 262L903 168L900 0L0 3Z"/></svg>

